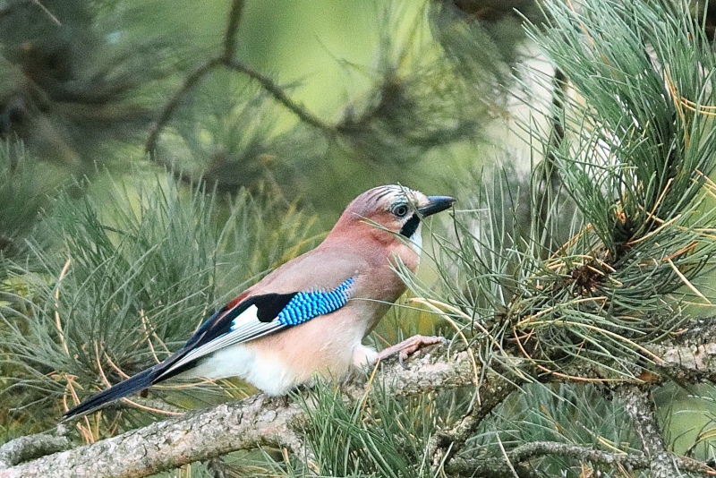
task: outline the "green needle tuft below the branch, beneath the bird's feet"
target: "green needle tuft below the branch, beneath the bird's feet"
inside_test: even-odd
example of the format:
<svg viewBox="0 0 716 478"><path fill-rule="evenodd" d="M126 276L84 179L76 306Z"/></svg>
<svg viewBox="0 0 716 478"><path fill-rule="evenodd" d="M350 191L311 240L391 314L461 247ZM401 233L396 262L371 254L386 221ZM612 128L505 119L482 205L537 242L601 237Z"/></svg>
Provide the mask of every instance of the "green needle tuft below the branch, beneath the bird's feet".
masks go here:
<svg viewBox="0 0 716 478"><path fill-rule="evenodd" d="M378 380L354 405L346 405L340 391L325 383L299 399L309 415L304 432L315 453L308 464L311 473L400 478L434 475L430 438L438 427L456 423L470 394L447 391L401 399L388 394ZM303 460L272 466L273 473L295 476L303 476L305 467Z"/></svg>

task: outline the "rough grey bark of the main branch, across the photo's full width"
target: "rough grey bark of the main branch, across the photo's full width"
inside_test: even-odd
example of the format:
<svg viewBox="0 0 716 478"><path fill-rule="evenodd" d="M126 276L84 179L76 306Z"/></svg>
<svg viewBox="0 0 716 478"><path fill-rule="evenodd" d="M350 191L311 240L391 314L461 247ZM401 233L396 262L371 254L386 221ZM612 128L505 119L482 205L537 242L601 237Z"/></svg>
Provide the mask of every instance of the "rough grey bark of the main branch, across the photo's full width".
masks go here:
<svg viewBox="0 0 716 478"><path fill-rule="evenodd" d="M716 321L712 320L712 322ZM673 344L650 347L651 352L660 356L663 362L654 365L654 377L650 379L648 385L643 384L644 389L656 386L663 380L674 379L696 383L716 377L714 360L716 359L716 341L714 341L716 324L694 320L686 327L688 328L689 325L693 325L700 332L695 335L686 333L678 336ZM698 343L699 337L710 342ZM515 358L513 363L529 366L524 358ZM475 377L480 374L479 370L474 370L473 362L465 351L454 352L447 358L442 355L424 354L420 358L413 358L409 364L409 369L403 368L395 361L379 365L381 380L388 388L388 393L395 396L414 396L431 390L471 386L474 384ZM667 373L659 376L660 370ZM601 376L601 371L593 373L584 369L581 371L583 377ZM514 383L496 373L488 372L487 377L479 390L482 393L500 395L496 390L515 388ZM545 378L542 377L541 380ZM564 381L559 377L546 380ZM624 388L632 388L634 385L634 380L625 380L625 382ZM347 399L356 402L362 400L366 389L364 384L352 382L343 387L343 392ZM627 408L629 405L634 405L628 403L626 399L628 397L623 398ZM491 400L484 400L475 407L491 409L494 405ZM639 405L637 408L644 407ZM633 411L638 413L637 409ZM473 410L471 414L483 417L487 412L489 410ZM148 427L128 431L123 435L91 445L0 469L0 478L59 478L69 475L141 477L171 470L187 463L220 457L231 451L267 445L288 448L303 455L306 451L310 451L303 450L303 443L298 438L305 420L306 414L301 405L286 398L270 398L259 394L242 401L153 423ZM450 431L446 431L444 435L452 437ZM31 437L23 437L21 440L31 442L30 439ZM7 446L12 447L10 444L5 445ZM445 446L434 448L436 454L445 454ZM669 460L669 465L675 463L671 461L671 455L664 448L663 441L658 447L652 448L647 451L645 463L665 465L663 460ZM664 453L666 455L663 455ZM17 457L18 453L14 452L13 456ZM655 460L657 456L661 459ZM30 454L25 459L34 457ZM677 463L684 463L679 461L680 458L675 457L675 459ZM5 464L13 465L12 461L14 460L8 463L6 460ZM462 463L465 459L458 461ZM443 465L450 466L447 462ZM455 466L460 467L457 463ZM708 467L703 465L702 468Z"/></svg>

